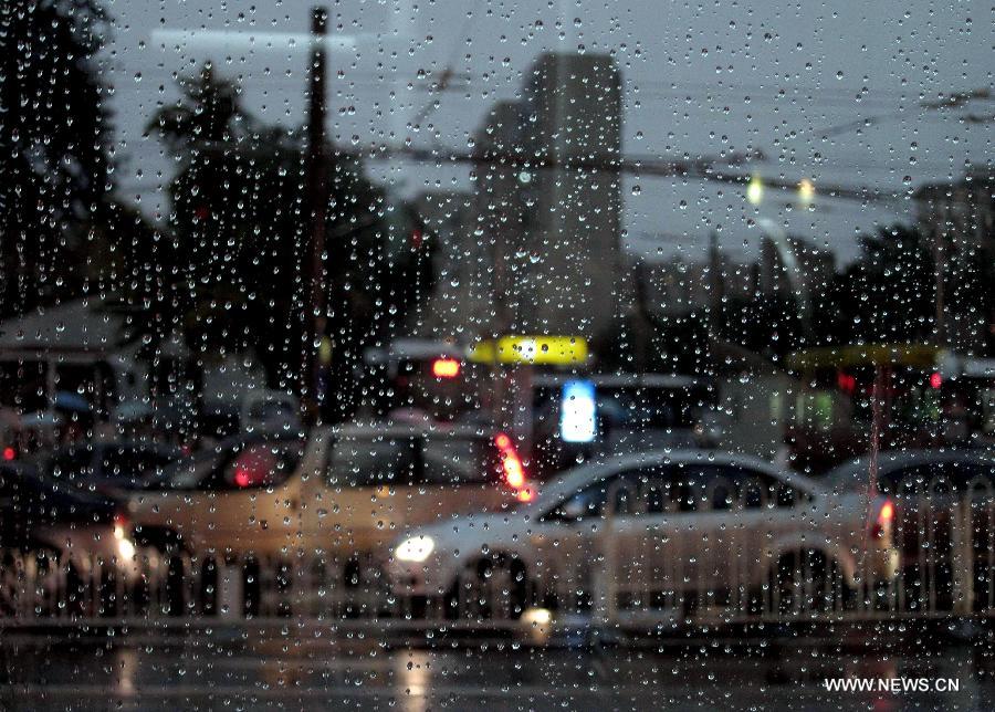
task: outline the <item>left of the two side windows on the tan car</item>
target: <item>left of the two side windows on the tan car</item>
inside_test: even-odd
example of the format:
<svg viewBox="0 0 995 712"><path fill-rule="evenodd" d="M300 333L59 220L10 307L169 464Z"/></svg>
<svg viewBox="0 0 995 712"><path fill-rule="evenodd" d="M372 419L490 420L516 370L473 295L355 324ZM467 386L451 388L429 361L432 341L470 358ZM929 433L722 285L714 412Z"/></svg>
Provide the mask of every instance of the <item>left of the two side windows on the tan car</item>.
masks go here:
<svg viewBox="0 0 995 712"><path fill-rule="evenodd" d="M416 438L344 437L335 441L326 473L332 486L379 486L421 481Z"/></svg>

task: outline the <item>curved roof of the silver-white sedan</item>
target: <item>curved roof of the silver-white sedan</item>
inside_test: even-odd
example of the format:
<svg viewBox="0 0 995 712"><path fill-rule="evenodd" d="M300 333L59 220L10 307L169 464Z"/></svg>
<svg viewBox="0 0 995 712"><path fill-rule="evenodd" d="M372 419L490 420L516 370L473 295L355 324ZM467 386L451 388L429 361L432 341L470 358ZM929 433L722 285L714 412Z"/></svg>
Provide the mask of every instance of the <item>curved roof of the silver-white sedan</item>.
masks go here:
<svg viewBox="0 0 995 712"><path fill-rule="evenodd" d="M574 468L573 470L568 470L563 473L561 479L554 480L552 484L543 488L543 491L536 499L534 505L547 505L551 500L556 500L576 492L577 490L609 477L619 470L652 464L736 465L748 468L751 470L760 470L761 472L776 477L788 484L797 485L799 489L813 494L825 492L825 489L814 480L794 472L781 470L769 462L752 456L719 450L651 450L590 462Z"/></svg>

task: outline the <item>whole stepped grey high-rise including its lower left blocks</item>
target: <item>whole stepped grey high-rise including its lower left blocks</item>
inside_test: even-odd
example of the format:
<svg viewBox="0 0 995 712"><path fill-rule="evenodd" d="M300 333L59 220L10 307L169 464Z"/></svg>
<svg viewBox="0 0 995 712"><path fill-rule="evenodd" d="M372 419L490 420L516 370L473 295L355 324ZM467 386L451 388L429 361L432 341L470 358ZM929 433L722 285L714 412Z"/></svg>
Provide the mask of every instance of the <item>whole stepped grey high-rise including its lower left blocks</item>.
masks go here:
<svg viewBox="0 0 995 712"><path fill-rule="evenodd" d="M429 331L467 341L502 333L597 338L616 325L626 272L620 134L621 80L610 57L536 60L522 98L495 103L473 135L469 208L449 205L449 193L417 200L427 227L453 243L437 254L442 279ZM458 314L457 295L469 300Z"/></svg>

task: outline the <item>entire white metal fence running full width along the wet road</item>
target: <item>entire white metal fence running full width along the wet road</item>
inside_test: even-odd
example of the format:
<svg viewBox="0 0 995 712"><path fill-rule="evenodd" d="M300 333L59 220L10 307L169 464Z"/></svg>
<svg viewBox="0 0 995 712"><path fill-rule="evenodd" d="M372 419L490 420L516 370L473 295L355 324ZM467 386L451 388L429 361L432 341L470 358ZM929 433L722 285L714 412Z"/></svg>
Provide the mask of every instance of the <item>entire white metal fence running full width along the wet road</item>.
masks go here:
<svg viewBox="0 0 995 712"><path fill-rule="evenodd" d="M492 557L465 567L449 593L429 599L392 593L373 558L343 561L321 551L213 558L148 549L126 566L3 551L0 625L295 618L484 630L520 625L523 616L580 616L594 625L666 630L989 616L995 498L980 483L961 496L934 485L896 498L893 546L879 544L887 532L821 536L806 519L811 513L778 502L773 491L754 499L742 486L724 499L706 491L694 512L683 513L667 505L651 511L652 493L614 491L606 517L582 527L593 533L578 538L577 555L564 545L542 574ZM714 502L724 504L709 505ZM756 544L785 531L803 538L781 549ZM880 551L865 554L874 546ZM890 570L881 566L887 557Z"/></svg>

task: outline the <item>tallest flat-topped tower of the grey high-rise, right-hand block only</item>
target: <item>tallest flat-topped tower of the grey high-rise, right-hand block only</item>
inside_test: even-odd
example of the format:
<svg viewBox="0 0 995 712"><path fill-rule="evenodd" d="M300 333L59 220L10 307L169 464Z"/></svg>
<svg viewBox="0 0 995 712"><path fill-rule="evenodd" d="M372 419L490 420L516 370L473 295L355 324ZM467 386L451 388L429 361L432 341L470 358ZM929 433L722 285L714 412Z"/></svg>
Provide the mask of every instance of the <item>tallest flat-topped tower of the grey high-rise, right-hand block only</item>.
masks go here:
<svg viewBox="0 0 995 712"><path fill-rule="evenodd" d="M526 74L520 170L528 331L597 337L619 314L621 75L594 54L543 54Z"/></svg>

